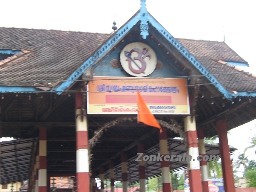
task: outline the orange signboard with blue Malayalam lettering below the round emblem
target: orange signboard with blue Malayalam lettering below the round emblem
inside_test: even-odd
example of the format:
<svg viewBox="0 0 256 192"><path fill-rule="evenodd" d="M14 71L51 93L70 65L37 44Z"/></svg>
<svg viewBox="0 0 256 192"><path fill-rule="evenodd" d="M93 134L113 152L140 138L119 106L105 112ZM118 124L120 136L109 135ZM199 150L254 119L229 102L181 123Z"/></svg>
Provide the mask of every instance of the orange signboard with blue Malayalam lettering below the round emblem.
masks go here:
<svg viewBox="0 0 256 192"><path fill-rule="evenodd" d="M189 114L186 79L95 76L87 84L88 114L137 114L137 90L153 114Z"/></svg>

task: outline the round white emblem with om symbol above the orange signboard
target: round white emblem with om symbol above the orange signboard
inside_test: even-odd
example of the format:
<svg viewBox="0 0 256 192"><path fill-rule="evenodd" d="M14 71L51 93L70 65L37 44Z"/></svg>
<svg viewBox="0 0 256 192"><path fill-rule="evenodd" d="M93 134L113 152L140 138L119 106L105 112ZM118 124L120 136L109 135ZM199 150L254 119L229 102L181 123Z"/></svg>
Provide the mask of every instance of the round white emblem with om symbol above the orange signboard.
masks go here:
<svg viewBox="0 0 256 192"><path fill-rule="evenodd" d="M157 56L147 44L135 42L126 45L122 49L120 62L124 70L130 75L145 77L154 71Z"/></svg>

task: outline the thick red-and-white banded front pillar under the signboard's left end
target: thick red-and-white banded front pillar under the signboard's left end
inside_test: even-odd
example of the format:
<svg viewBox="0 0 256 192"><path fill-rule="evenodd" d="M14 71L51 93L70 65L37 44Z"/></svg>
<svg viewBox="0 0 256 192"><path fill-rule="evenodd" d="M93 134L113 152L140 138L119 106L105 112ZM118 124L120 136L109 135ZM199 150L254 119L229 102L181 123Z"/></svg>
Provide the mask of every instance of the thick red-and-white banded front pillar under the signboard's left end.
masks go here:
<svg viewBox="0 0 256 192"><path fill-rule="evenodd" d="M77 192L90 191L87 116L82 114L83 94L76 93L76 182Z"/></svg>

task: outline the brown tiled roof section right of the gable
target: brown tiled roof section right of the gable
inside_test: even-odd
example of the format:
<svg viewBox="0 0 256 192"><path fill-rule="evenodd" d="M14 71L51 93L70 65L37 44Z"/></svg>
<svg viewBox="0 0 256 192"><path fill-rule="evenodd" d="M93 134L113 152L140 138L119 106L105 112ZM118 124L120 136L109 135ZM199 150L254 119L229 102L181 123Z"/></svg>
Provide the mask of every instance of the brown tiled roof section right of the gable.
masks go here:
<svg viewBox="0 0 256 192"><path fill-rule="evenodd" d="M227 64L227 61L247 62L226 43L190 39L178 39L178 41L194 55L227 90L256 92L256 76Z"/></svg>

